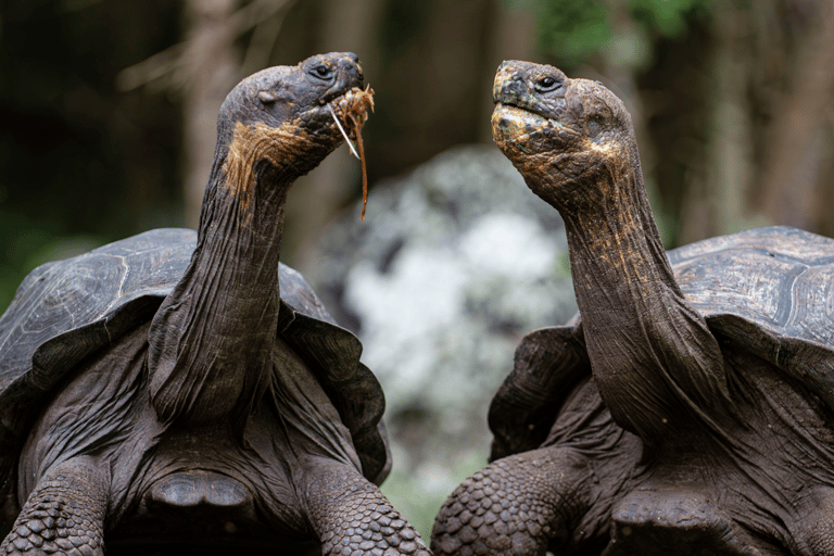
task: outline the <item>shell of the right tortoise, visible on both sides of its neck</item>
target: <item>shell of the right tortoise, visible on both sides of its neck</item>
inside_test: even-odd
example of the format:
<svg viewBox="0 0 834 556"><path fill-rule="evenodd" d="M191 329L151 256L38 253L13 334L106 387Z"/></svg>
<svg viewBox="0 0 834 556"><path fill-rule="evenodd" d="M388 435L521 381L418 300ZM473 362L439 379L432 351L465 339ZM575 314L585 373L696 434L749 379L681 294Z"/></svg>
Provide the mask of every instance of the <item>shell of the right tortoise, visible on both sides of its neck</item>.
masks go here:
<svg viewBox="0 0 834 556"><path fill-rule="evenodd" d="M834 240L773 226L668 256L686 300L723 349L755 353L834 410ZM539 447L561 403L590 374L579 315L527 334L490 405L490 460Z"/></svg>

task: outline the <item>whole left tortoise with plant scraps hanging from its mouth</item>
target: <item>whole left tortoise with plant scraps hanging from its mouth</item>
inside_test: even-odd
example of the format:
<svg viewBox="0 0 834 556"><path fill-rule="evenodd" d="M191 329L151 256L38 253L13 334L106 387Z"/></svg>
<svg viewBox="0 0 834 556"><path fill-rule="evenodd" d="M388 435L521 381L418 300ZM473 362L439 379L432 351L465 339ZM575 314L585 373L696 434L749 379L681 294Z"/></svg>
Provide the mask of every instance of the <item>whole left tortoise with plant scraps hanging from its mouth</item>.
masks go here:
<svg viewBox="0 0 834 556"><path fill-rule="evenodd" d="M377 484L382 391L279 264L292 182L367 115L354 54L273 67L218 118L200 228L35 269L0 318L0 554L428 554ZM338 114L338 115L337 115ZM351 116L351 117L348 117Z"/></svg>

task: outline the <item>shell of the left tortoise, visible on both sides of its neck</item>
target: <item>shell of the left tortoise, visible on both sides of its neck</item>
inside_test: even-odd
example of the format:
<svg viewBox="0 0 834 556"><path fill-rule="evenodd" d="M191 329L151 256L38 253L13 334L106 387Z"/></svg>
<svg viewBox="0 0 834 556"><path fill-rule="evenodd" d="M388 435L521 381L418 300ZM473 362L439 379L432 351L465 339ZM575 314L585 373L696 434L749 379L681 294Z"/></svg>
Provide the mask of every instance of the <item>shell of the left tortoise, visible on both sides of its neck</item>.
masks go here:
<svg viewBox="0 0 834 556"><path fill-rule="evenodd" d="M0 317L0 485L14 476L21 446L45 394L86 357L150 320L189 264L197 232L156 229L47 263L21 283ZM365 477L382 482L390 458L384 397L359 363L362 343L339 327L307 281L279 265L278 334L311 366L351 432Z"/></svg>

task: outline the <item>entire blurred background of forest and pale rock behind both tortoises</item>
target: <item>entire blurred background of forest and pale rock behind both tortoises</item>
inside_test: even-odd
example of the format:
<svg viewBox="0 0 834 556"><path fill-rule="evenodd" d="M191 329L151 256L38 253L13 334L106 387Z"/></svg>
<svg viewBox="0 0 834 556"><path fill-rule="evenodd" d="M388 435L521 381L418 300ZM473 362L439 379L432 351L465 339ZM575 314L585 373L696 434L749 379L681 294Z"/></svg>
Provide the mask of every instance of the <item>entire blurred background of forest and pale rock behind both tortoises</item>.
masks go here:
<svg viewBox="0 0 834 556"><path fill-rule="evenodd" d="M489 392L513 345L573 311L558 217L492 146L503 60L552 63L623 99L667 247L766 224L834 235L832 0L0 0L0 311L38 264L194 227L226 93L333 50L358 53L376 90L368 222L359 165L340 148L293 189L282 260L382 368L386 489L424 535L484 465ZM515 236L539 239L502 243ZM544 266L495 263L519 251ZM406 258L419 271L389 268ZM387 342L394 325L379 315L402 324L404 298L440 309Z"/></svg>

